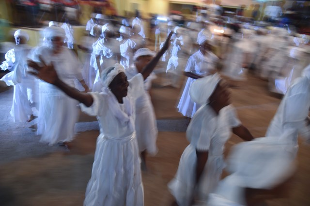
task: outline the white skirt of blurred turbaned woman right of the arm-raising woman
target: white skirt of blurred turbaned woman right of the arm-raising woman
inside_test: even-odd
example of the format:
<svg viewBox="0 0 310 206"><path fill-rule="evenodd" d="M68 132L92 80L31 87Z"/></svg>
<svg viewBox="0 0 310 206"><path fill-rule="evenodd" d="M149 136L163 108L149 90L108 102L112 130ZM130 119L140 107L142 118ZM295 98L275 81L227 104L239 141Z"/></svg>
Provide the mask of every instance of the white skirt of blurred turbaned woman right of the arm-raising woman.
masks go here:
<svg viewBox="0 0 310 206"><path fill-rule="evenodd" d="M195 187L196 165L196 149L189 145L181 156L175 177L168 183L168 188L179 206L190 206L196 194L196 200L206 201L208 194L216 189L225 164L222 155L212 157L209 154L198 188Z"/></svg>

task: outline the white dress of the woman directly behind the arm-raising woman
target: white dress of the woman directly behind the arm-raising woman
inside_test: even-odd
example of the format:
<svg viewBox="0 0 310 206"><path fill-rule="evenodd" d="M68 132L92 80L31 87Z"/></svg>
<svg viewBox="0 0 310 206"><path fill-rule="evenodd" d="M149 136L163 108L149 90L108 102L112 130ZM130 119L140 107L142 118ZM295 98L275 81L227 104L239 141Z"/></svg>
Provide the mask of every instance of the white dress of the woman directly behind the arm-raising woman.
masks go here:
<svg viewBox="0 0 310 206"><path fill-rule="evenodd" d="M131 66L126 70L128 79L133 78L136 74L138 74L138 70L135 66ZM136 101L135 127L139 151L142 152L146 150L150 155L155 155L157 153L157 123L154 107L148 92L152 86L152 80L155 78L156 75L151 73L144 80L144 92Z"/></svg>

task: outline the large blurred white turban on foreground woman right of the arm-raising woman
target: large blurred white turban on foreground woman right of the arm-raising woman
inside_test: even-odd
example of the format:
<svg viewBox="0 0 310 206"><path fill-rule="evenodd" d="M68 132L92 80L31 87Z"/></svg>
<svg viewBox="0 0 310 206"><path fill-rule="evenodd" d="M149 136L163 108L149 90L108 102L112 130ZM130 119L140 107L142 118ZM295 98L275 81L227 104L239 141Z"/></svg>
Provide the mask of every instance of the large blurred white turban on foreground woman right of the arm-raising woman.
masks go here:
<svg viewBox="0 0 310 206"><path fill-rule="evenodd" d="M196 79L189 88L189 96L192 101L198 104L209 103L209 98L220 80L221 77L217 73Z"/></svg>

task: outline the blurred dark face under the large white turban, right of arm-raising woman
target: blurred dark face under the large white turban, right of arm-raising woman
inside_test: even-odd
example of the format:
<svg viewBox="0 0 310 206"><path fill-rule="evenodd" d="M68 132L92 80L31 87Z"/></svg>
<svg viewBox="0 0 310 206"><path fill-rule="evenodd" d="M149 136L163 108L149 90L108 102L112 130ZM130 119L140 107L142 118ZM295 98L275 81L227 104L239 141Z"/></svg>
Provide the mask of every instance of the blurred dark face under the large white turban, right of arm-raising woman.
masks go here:
<svg viewBox="0 0 310 206"><path fill-rule="evenodd" d="M210 103L215 103L221 108L231 104L231 92L228 89L228 84L225 80L220 80L217 88L210 97Z"/></svg>

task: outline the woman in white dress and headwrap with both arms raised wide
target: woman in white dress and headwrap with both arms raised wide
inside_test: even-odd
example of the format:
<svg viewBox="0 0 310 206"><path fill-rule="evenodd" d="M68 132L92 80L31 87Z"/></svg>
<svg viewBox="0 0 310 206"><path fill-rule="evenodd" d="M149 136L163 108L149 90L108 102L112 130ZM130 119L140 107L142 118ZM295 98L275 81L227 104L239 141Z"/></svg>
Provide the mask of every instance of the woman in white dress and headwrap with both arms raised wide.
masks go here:
<svg viewBox="0 0 310 206"><path fill-rule="evenodd" d="M135 101L143 93L143 80L154 70L169 47L164 47L143 68L127 81L124 68L115 64L104 70L104 91L83 93L65 84L52 64L39 66L30 61L37 72L32 74L61 89L81 103L82 110L97 116L103 127L97 139L92 177L87 185L84 206L143 206L140 157L135 138Z"/></svg>

